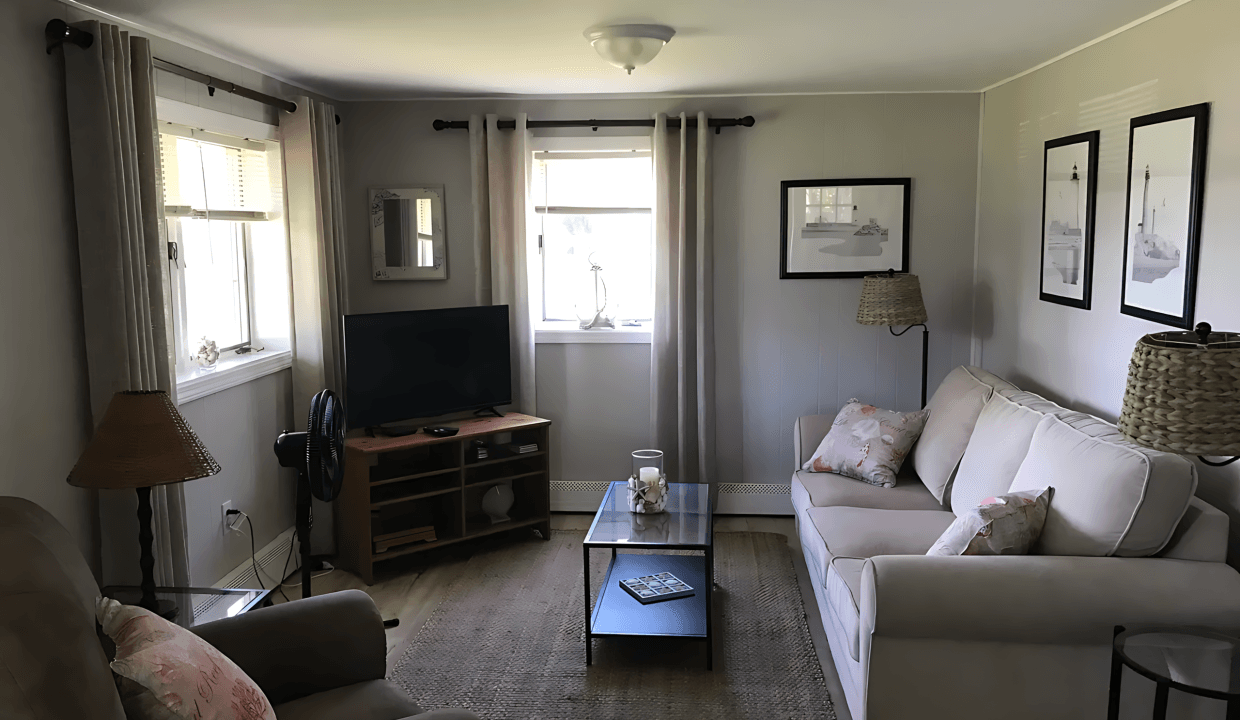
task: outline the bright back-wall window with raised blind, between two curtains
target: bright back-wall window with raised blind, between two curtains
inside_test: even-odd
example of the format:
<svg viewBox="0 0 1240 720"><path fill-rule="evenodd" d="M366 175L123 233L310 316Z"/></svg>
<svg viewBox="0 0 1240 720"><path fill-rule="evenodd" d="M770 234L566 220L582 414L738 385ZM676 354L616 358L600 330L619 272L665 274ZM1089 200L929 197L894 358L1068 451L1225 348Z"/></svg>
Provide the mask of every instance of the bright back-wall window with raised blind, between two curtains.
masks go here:
<svg viewBox="0 0 1240 720"><path fill-rule="evenodd" d="M589 147L591 140L579 139L577 149L534 152L532 195L542 276L533 283L541 289L533 301L544 322L589 318L598 297L618 321L649 323L653 317L649 141L609 139L626 147L598 150Z"/></svg>

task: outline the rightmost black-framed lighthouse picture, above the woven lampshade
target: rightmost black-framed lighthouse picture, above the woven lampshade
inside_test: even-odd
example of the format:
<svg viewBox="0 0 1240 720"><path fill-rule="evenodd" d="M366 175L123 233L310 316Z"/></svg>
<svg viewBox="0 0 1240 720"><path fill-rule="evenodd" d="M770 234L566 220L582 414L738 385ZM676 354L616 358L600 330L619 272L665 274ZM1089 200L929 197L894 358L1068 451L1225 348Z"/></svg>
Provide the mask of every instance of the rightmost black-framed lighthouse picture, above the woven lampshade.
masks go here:
<svg viewBox="0 0 1240 720"><path fill-rule="evenodd" d="M1183 138L1173 140L1168 128L1156 130L1158 125L1179 120L1192 120L1190 133L1188 129L1178 131L1177 138ZM1193 328L1193 315L1197 310L1197 271L1198 258L1200 255L1202 212L1205 202L1205 159L1209 141L1209 103L1163 110L1133 118L1130 121L1128 180L1123 206L1123 266L1121 268L1120 286L1120 312L1123 315L1182 330ZM1187 140L1189 138L1190 140ZM1141 140L1141 147L1138 147L1138 140ZM1171 145L1176 146L1172 147ZM1182 176L1167 176L1166 180L1168 183L1176 186L1167 192L1156 191L1156 197L1151 201L1151 182L1159 178L1157 169L1152 173L1149 170L1149 159L1152 155L1171 157L1173 162L1185 166L1189 172L1188 188L1187 192L1183 192L1184 197L1173 197L1173 204L1169 208L1166 204L1166 196L1184 191L1179 186L1179 177ZM1145 170L1142 170L1142 165L1145 165ZM1140 187L1133 186L1135 172L1143 175ZM1138 198L1133 197L1135 191L1141 196L1140 213L1137 213L1137 207L1133 204L1138 202ZM1163 195L1164 197L1158 198L1157 195ZM1149 207L1151 202L1154 204L1153 208ZM1166 214L1172 216L1172 233L1174 235L1168 233L1168 237L1163 238L1158 234L1157 209L1159 207ZM1149 212L1151 209L1153 212ZM1138 223L1133 223L1137 214L1141 219ZM1178 217L1183 217L1184 222L1176 222ZM1182 243L1178 238L1178 228L1180 226L1183 226ZM1180 248L1180 245L1183 247ZM1130 261L1132 263L1131 268ZM1161 263L1161 265L1157 263ZM1164 280L1178 269L1180 263L1183 264L1183 274L1178 275L1173 283L1179 283L1183 288L1173 285L1164 290L1168 300L1174 297L1171 304L1164 304L1167 306L1163 307L1149 307L1149 305L1156 305L1156 302L1148 300L1145 301L1145 305L1136 304L1142 301L1137 296L1143 292L1137 285L1138 283L1153 285L1159 280ZM1171 305L1174 305L1174 307Z"/></svg>

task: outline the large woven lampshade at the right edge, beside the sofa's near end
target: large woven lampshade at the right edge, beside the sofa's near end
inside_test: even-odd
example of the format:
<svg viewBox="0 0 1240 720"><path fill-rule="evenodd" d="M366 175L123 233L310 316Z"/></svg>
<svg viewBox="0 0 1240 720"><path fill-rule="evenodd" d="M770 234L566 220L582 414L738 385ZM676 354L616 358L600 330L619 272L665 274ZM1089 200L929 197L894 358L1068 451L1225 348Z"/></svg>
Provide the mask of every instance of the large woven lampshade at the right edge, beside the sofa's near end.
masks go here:
<svg viewBox="0 0 1240 720"><path fill-rule="evenodd" d="M1193 332L1137 341L1118 425L1138 445L1214 467L1240 460L1240 333L1199 322Z"/></svg>

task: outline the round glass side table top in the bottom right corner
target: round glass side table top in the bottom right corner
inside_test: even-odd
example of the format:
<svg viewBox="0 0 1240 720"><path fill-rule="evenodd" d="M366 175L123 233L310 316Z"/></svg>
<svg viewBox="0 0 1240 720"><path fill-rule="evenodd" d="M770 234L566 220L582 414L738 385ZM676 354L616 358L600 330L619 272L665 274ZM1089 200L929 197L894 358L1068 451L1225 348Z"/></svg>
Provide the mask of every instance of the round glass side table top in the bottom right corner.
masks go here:
<svg viewBox="0 0 1240 720"><path fill-rule="evenodd" d="M1194 628L1133 628L1115 652L1146 678L1216 699L1240 698L1240 638Z"/></svg>

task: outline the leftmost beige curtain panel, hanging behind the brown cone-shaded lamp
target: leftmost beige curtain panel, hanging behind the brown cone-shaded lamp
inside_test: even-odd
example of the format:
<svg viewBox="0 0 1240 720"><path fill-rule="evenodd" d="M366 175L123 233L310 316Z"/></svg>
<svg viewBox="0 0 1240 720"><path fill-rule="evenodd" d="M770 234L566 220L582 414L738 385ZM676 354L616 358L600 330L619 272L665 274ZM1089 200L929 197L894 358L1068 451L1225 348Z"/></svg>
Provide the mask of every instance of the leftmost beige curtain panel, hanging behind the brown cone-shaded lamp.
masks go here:
<svg viewBox="0 0 1240 720"><path fill-rule="evenodd" d="M94 421L120 390L166 390L172 375L171 295L150 43L95 20L91 47L64 45L66 98L82 316ZM135 576L136 497L100 492L104 579ZM155 581L190 584L185 492L151 490Z"/></svg>

